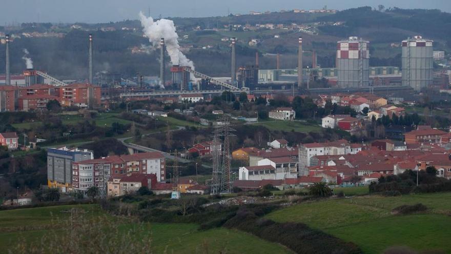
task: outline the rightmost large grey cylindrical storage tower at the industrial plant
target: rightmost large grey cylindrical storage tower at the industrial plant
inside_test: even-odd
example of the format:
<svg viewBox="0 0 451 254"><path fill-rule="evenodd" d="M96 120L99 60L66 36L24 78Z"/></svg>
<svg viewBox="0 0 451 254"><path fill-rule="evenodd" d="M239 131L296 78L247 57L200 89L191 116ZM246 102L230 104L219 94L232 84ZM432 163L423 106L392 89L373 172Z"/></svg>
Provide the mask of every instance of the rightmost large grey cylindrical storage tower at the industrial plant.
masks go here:
<svg viewBox="0 0 451 254"><path fill-rule="evenodd" d="M402 85L419 92L434 81L433 41L417 35L402 41Z"/></svg>

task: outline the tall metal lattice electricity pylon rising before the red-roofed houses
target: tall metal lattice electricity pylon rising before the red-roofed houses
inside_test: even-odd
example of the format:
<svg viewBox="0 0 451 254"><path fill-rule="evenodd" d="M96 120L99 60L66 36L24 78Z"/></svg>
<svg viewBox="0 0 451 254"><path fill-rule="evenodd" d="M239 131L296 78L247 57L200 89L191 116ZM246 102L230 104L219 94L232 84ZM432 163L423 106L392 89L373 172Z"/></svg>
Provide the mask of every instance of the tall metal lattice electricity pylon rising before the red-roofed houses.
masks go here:
<svg viewBox="0 0 451 254"><path fill-rule="evenodd" d="M212 153L213 153L213 174L211 184L211 194L226 194L232 192L232 179L230 171L230 136L234 129L230 127L230 116L224 116L216 122ZM222 156L221 141L222 136Z"/></svg>

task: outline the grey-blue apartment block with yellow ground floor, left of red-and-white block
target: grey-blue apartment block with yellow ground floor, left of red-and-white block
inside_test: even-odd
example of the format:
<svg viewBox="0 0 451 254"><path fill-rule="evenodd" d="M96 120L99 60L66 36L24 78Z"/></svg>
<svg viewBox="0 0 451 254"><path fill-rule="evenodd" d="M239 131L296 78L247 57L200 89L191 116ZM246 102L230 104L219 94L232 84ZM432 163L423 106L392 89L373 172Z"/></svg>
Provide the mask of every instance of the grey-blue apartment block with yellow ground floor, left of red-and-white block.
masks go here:
<svg viewBox="0 0 451 254"><path fill-rule="evenodd" d="M72 189L72 163L94 159L92 151L66 146L47 149L47 185L62 192Z"/></svg>

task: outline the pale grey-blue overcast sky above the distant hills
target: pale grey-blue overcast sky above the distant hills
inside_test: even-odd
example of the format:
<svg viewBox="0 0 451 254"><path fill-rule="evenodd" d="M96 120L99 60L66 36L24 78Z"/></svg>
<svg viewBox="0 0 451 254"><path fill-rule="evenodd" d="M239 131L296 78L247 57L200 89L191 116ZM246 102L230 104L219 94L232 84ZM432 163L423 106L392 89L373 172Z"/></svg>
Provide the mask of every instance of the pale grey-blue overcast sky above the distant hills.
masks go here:
<svg viewBox="0 0 451 254"><path fill-rule="evenodd" d="M451 0L0 0L0 25L12 22L116 22L137 19L148 8L153 17L223 16L281 9L348 9L360 6L440 9L451 12Z"/></svg>

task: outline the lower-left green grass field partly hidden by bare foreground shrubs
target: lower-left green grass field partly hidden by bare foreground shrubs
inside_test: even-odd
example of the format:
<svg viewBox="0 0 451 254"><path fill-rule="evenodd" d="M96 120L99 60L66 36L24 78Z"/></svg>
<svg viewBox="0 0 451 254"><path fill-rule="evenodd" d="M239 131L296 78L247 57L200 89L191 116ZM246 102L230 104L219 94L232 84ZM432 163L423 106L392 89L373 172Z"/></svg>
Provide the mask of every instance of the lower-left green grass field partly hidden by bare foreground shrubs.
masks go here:
<svg viewBox="0 0 451 254"><path fill-rule="evenodd" d="M57 218L68 219L71 207L79 207L89 216L103 216L97 205L73 205L0 211L0 253L7 253L17 241L38 241L55 224ZM111 218L115 220L115 218ZM119 219L120 230L127 231L137 224ZM259 239L248 233L216 228L197 230L196 224L148 223L154 253L291 253L285 247Z"/></svg>

